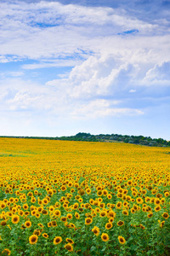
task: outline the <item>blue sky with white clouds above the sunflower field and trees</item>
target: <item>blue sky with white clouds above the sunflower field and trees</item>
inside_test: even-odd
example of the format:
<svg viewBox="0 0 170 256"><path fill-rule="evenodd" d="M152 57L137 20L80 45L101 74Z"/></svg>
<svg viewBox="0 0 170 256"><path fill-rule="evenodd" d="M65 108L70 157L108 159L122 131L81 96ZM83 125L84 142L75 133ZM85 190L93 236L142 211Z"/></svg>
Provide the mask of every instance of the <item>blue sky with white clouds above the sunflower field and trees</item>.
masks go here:
<svg viewBox="0 0 170 256"><path fill-rule="evenodd" d="M170 140L170 1L0 3L0 135Z"/></svg>

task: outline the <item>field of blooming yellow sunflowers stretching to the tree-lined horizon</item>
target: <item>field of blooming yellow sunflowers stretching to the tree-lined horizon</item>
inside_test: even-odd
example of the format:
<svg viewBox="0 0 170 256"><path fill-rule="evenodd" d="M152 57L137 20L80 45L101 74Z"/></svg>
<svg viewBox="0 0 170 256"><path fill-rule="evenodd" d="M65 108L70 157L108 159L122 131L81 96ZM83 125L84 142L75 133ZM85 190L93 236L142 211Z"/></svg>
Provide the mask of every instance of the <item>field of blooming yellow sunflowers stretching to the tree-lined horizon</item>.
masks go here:
<svg viewBox="0 0 170 256"><path fill-rule="evenodd" d="M169 255L169 151L0 138L0 255Z"/></svg>

